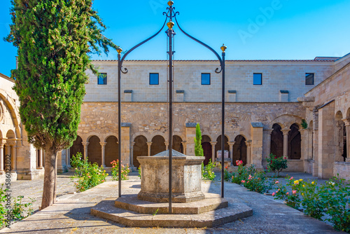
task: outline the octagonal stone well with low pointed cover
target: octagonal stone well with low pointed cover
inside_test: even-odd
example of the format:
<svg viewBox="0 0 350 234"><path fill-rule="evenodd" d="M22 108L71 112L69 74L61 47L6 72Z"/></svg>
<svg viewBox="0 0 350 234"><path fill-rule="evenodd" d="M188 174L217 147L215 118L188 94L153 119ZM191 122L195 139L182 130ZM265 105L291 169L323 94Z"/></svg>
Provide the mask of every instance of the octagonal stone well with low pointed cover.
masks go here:
<svg viewBox="0 0 350 234"><path fill-rule="evenodd" d="M204 157L186 156L172 150L172 202L204 199L202 162ZM138 157L141 191L138 198L150 202L169 202L169 150L151 157Z"/></svg>

